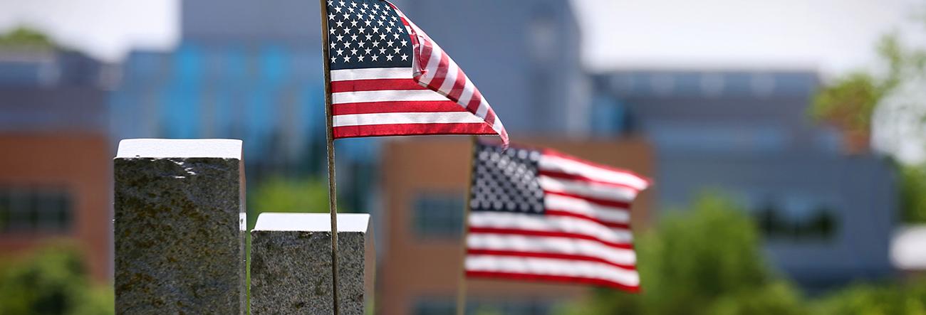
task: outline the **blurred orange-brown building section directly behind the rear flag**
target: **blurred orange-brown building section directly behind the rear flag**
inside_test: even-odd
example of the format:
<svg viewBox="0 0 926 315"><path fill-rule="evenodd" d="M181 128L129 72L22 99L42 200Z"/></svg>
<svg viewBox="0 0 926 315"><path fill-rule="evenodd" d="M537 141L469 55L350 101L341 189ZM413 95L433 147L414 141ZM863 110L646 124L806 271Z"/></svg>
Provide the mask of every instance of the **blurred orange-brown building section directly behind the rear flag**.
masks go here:
<svg viewBox="0 0 926 315"><path fill-rule="evenodd" d="M535 139L519 143L567 151L591 161L653 174L654 158L639 139ZM379 265L376 307L381 314L452 314L462 261L463 207L469 183L471 142L465 137L388 141L383 148L382 189L386 232ZM633 202L632 226L644 226L653 190ZM581 297L582 285L494 280L468 281L470 313L550 314L558 302Z"/></svg>

